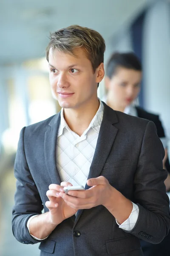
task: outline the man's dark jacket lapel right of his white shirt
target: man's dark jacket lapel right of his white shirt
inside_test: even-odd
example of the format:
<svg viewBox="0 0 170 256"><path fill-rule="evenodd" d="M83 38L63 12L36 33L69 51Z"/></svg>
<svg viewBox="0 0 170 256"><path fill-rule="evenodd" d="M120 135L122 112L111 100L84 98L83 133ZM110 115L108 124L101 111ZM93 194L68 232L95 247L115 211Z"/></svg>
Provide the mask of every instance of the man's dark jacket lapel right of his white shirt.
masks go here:
<svg viewBox="0 0 170 256"><path fill-rule="evenodd" d="M116 112L109 108L107 105L104 104L104 113L102 124L99 131L99 137L96 144L96 149L94 152L94 157L91 163L88 179L99 177L103 166L108 158L108 155L111 151L113 146L113 142L116 138L116 134L118 132L118 128L113 126L113 124L118 122ZM86 184L85 189L89 189L89 186ZM83 210L78 210L76 219L74 222L74 226L77 224L80 215L82 214Z"/></svg>

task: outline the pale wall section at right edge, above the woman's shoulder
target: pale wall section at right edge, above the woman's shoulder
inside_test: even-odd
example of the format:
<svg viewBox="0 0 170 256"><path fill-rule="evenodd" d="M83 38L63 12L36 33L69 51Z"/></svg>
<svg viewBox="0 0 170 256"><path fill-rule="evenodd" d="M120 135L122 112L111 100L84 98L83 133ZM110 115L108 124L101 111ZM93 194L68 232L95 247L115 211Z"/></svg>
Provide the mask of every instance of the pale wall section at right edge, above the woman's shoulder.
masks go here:
<svg viewBox="0 0 170 256"><path fill-rule="evenodd" d="M170 6L166 0L157 1L147 12L143 43L145 107L160 113L170 138Z"/></svg>

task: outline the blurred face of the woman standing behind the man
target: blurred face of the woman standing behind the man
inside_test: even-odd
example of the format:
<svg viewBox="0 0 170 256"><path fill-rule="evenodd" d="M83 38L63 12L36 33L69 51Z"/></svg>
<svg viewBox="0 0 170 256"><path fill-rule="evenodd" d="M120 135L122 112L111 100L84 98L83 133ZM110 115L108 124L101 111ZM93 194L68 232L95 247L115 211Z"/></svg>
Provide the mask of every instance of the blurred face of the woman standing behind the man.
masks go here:
<svg viewBox="0 0 170 256"><path fill-rule="evenodd" d="M111 79L105 79L109 98L116 106L125 108L138 96L141 79L141 71L118 67Z"/></svg>

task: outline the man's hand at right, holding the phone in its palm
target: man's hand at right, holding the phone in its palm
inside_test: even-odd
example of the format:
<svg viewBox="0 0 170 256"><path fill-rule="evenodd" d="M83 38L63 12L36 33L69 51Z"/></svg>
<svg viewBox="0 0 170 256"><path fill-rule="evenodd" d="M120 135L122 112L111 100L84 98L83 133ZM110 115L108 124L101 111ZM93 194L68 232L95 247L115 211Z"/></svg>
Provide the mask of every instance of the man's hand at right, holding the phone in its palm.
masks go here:
<svg viewBox="0 0 170 256"><path fill-rule="evenodd" d="M68 195L59 192L59 196L69 207L75 210L103 205L120 224L129 218L133 209L132 202L111 186L105 177L91 178L87 180L87 184L91 186L90 189L69 191Z"/></svg>

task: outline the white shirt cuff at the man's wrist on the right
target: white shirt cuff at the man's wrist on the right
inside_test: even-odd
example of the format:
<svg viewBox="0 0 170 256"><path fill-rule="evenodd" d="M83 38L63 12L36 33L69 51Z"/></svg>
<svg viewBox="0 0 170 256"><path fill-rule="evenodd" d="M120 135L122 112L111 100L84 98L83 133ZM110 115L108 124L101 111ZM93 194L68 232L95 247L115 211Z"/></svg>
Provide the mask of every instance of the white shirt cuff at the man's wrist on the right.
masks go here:
<svg viewBox="0 0 170 256"><path fill-rule="evenodd" d="M133 209L132 212L129 215L129 218L124 221L121 225L120 223L116 220L116 223L119 225L119 228L122 228L123 230L126 231L131 231L133 229L133 227L135 227L136 221L138 219L139 216L139 207L137 204L133 204Z"/></svg>

